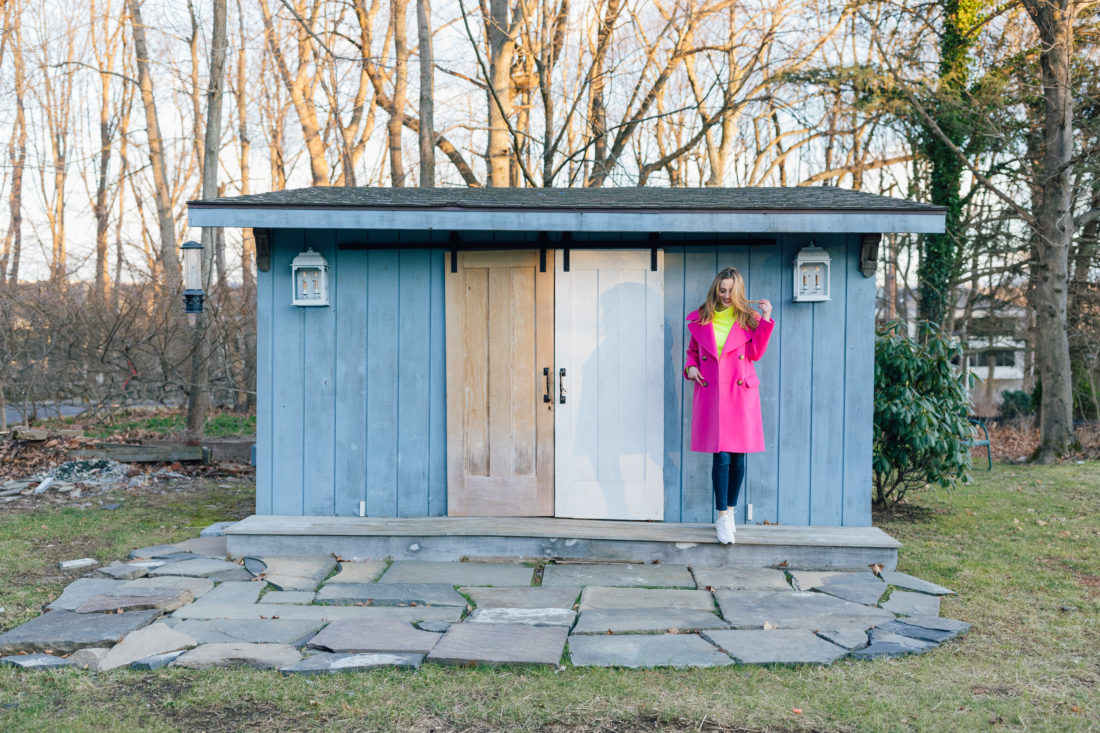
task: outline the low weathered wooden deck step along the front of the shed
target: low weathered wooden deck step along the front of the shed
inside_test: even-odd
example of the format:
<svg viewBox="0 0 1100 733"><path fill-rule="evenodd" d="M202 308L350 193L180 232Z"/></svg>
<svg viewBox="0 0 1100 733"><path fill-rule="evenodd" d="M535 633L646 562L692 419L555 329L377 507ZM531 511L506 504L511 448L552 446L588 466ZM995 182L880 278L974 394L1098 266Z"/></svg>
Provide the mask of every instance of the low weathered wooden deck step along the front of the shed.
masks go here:
<svg viewBox="0 0 1100 733"><path fill-rule="evenodd" d="M878 527L741 525L721 545L714 525L553 517L253 515L227 529L233 556L459 560L590 560L892 570L901 543Z"/></svg>

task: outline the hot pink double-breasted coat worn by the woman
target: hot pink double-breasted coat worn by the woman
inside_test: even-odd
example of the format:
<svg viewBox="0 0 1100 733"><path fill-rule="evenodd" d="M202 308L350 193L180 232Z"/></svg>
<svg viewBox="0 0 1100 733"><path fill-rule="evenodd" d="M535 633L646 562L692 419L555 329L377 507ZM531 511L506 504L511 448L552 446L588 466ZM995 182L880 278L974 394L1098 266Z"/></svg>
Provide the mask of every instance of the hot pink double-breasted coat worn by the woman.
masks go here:
<svg viewBox="0 0 1100 733"><path fill-rule="evenodd" d="M714 326L700 324L698 311L688 315L688 366L695 366L706 386L694 384L691 449L703 453L728 450L752 453L763 450L760 419L760 379L752 362L763 357L773 320L760 320L755 330L737 324L729 329L718 358Z"/></svg>

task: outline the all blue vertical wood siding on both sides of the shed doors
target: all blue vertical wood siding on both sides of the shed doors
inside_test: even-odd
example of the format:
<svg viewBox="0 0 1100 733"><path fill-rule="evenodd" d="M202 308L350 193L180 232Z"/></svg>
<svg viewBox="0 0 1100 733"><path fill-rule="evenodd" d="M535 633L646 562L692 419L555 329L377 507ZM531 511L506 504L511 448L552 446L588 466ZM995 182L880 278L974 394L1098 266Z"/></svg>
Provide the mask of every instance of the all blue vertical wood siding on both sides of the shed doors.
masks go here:
<svg viewBox="0 0 1100 733"><path fill-rule="evenodd" d="M399 234L370 232L374 245ZM536 247L535 234L476 233L468 244ZM256 512L441 516L447 512L444 249L341 250L351 230L276 230L258 282ZM578 237L579 241L586 238ZM776 307L757 364L767 450L748 459L745 521L870 524L875 280L856 234L818 236L833 259L833 299L793 303L792 262L807 234L774 247L664 248L664 519L714 516L711 457L689 449L691 385L684 317L722 267ZM439 240L442 244L443 241ZM591 241L614 248L616 236ZM290 306L290 260L307 245L329 261L327 308Z"/></svg>

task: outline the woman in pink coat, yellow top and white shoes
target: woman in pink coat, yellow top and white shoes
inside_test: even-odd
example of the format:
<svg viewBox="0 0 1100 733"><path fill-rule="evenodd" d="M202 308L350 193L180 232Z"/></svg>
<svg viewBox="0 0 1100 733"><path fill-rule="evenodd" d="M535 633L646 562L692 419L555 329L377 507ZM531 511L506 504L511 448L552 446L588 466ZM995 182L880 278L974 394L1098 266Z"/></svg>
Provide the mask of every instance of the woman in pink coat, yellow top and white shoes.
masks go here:
<svg viewBox="0 0 1100 733"><path fill-rule="evenodd" d="M749 305L760 306L757 313ZM713 453L711 481L718 511L718 541L734 541L734 510L745 481L745 453L763 450L760 380L752 362L768 348L776 326L769 300L748 300L735 267L719 272L706 300L688 315L691 343L684 378L694 382L691 449Z"/></svg>

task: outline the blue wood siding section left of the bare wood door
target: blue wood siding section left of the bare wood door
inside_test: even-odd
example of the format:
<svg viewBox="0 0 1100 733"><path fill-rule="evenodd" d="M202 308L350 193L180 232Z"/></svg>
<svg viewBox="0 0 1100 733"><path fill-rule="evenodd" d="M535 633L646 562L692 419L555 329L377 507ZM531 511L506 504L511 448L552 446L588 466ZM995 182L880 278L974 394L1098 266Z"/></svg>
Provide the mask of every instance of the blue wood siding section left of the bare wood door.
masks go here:
<svg viewBox="0 0 1100 733"><path fill-rule="evenodd" d="M356 240L273 232L257 287L260 514L447 512L444 252L339 249ZM307 245L329 262L329 307L290 305L290 260Z"/></svg>

